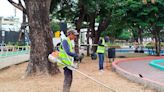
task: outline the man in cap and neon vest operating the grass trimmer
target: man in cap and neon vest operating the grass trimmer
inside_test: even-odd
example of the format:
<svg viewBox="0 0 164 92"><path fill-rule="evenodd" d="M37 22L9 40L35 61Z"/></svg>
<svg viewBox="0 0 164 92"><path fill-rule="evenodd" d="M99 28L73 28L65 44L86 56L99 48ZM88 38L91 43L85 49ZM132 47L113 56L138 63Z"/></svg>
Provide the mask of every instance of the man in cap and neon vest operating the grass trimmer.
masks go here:
<svg viewBox="0 0 164 92"><path fill-rule="evenodd" d="M61 59L62 63L67 66L73 65L73 59L78 58L79 55L73 52L73 45L71 40L75 40L76 36L78 35L76 30L70 29L67 31L67 39L63 40L61 46L59 48L59 58ZM64 67L64 84L63 84L63 92L70 92L70 87L72 84L72 70L68 67Z"/></svg>

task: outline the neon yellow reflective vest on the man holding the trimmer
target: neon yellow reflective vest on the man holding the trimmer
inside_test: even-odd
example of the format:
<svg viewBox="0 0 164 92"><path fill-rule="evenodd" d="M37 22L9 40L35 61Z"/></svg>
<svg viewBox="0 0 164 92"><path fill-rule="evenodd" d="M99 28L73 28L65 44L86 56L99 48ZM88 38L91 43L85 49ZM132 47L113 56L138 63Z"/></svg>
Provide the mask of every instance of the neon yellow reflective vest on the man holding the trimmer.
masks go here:
<svg viewBox="0 0 164 92"><path fill-rule="evenodd" d="M67 43L69 45L69 48L70 48L70 52L73 51L73 45L71 43L71 40L69 38L67 38ZM59 48L59 59L62 61L63 64L65 65L73 65L73 57L67 55L67 53L64 51L64 49L62 48L62 44ZM64 67L64 65L62 64L58 64L59 66L61 67Z"/></svg>

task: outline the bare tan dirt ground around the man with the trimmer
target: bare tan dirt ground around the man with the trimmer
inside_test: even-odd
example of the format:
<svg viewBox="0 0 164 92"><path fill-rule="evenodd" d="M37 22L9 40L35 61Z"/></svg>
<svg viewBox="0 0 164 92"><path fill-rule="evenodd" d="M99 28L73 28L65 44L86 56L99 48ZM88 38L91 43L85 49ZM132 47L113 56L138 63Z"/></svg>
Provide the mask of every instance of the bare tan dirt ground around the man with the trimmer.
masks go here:
<svg viewBox="0 0 164 92"><path fill-rule="evenodd" d="M108 61L106 59L106 61ZM106 66L106 65L105 65ZM7 69L0 70L0 92L62 92L63 70L55 76L33 76L22 78L25 73L27 63L14 65ZM97 60L85 58L78 69L85 74L101 81L116 92L156 92L145 88L142 85L131 82L117 73L110 67L104 72L98 70ZM71 92L112 92L110 89L93 82L85 76L74 72Z"/></svg>

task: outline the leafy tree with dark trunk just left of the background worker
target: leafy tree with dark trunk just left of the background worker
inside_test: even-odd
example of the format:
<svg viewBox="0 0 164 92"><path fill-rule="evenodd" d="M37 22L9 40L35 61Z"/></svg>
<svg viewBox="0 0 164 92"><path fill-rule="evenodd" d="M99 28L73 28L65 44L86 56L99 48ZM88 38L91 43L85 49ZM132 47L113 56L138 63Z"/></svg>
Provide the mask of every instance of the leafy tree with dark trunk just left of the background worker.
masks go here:
<svg viewBox="0 0 164 92"><path fill-rule="evenodd" d="M88 14L89 27L94 44L98 43L102 32L105 31L111 23L115 3L113 0L90 0L86 4L88 10L86 12ZM95 30L95 23L99 24L97 30ZM93 52L96 52L96 46L92 48Z"/></svg>

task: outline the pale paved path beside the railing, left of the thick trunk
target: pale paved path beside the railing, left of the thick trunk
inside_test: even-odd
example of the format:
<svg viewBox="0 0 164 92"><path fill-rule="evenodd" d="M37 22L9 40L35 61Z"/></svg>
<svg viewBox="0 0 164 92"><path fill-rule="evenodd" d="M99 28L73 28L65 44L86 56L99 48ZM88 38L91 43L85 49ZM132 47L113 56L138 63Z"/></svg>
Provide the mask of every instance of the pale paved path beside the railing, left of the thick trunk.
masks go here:
<svg viewBox="0 0 164 92"><path fill-rule="evenodd" d="M0 58L0 69L29 60L29 54Z"/></svg>

